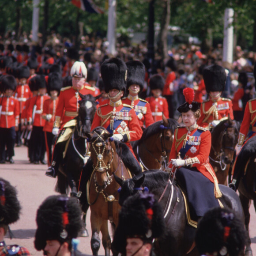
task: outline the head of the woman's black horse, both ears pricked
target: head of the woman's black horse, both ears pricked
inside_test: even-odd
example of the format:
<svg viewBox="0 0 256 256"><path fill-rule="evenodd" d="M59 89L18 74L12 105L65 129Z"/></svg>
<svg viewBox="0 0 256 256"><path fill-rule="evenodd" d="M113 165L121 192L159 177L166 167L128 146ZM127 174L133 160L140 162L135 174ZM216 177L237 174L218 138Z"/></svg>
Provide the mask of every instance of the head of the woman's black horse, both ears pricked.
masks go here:
<svg viewBox="0 0 256 256"><path fill-rule="evenodd" d="M136 193L141 193L144 190L147 190L147 188L142 188L143 181L145 179L145 175L142 174L141 177L136 178L133 177L131 179L127 179L123 181L121 178L117 177L117 175L114 175L115 180L120 185L120 188L118 189L119 192L119 200L118 203L122 206L124 201L129 197L133 196ZM140 175L140 174L139 174Z"/></svg>

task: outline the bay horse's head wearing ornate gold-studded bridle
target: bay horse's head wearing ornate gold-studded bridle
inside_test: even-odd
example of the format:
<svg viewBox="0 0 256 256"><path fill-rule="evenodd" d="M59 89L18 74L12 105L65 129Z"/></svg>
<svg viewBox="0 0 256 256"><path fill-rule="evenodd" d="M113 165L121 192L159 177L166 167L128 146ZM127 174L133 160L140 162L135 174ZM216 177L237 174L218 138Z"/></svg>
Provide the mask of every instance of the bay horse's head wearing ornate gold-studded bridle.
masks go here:
<svg viewBox="0 0 256 256"><path fill-rule="evenodd" d="M91 134L86 133L90 141L90 158L94 165L95 182L98 187L105 188L110 184L112 178L108 170L113 162L113 154L115 152L115 143L111 138L112 134L103 128L95 128Z"/></svg>

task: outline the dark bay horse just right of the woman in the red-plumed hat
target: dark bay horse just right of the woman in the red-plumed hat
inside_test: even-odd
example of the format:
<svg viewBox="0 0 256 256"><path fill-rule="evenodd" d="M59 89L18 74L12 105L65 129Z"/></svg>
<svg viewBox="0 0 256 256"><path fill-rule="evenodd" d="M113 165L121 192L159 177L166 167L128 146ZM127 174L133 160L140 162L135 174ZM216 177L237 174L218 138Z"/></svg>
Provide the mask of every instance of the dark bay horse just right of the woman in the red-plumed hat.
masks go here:
<svg viewBox="0 0 256 256"><path fill-rule="evenodd" d="M240 122L230 116L222 120L211 131L211 151L209 159L219 184L227 185L227 177L233 167L235 146L238 141Z"/></svg>

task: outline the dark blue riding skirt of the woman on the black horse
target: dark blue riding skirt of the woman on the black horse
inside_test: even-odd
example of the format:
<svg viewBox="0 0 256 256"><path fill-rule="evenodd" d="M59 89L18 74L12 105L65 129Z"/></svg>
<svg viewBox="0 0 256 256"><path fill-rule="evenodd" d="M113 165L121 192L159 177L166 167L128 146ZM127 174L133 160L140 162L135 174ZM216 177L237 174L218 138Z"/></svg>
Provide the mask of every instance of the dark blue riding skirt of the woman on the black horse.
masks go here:
<svg viewBox="0 0 256 256"><path fill-rule="evenodd" d="M192 219L203 216L211 208L219 207L214 195L214 183L195 167L181 167L176 171L176 181L187 193Z"/></svg>

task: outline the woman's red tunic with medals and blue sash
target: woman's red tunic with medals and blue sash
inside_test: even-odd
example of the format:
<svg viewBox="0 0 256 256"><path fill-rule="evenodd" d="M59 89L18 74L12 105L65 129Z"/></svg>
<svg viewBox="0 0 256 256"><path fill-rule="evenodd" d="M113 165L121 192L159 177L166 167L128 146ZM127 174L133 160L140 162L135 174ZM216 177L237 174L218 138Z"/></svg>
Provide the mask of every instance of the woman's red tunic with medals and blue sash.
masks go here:
<svg viewBox="0 0 256 256"><path fill-rule="evenodd" d="M178 127L174 132L174 140L169 159L176 159L180 152L181 159L196 167L200 173L214 182L215 172L209 162L211 150L211 132L205 128L194 125L194 129L188 131L186 127ZM169 166L173 167L172 164Z"/></svg>

